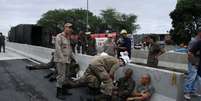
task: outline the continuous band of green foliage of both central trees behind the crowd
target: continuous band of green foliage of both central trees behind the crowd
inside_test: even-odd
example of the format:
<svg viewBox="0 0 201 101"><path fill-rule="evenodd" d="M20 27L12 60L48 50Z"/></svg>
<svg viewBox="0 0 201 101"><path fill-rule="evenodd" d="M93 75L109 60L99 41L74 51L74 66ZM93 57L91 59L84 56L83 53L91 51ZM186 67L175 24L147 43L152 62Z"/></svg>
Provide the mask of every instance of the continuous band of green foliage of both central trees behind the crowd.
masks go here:
<svg viewBox="0 0 201 101"><path fill-rule="evenodd" d="M119 32L121 29L126 29L132 33L139 28L139 25L135 24L137 16L121 14L115 9L102 10L101 16L95 16L92 12L83 9L55 9L44 13L37 24L43 26L48 32L58 33L63 30L66 22L71 22L75 33L78 33L86 31L87 12L91 32L100 33L105 30Z"/></svg>

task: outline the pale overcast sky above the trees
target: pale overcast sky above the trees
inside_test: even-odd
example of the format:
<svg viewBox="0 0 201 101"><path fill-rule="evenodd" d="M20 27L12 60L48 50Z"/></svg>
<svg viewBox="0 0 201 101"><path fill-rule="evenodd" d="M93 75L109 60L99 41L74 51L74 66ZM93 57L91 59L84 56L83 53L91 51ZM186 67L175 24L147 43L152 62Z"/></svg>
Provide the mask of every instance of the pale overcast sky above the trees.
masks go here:
<svg viewBox="0 0 201 101"><path fill-rule="evenodd" d="M166 33L171 28L169 13L177 0L88 0L89 10L115 8L118 12L135 14L142 33ZM0 0L0 32L7 35L11 26L36 24L42 14L54 9L86 9L87 0Z"/></svg>

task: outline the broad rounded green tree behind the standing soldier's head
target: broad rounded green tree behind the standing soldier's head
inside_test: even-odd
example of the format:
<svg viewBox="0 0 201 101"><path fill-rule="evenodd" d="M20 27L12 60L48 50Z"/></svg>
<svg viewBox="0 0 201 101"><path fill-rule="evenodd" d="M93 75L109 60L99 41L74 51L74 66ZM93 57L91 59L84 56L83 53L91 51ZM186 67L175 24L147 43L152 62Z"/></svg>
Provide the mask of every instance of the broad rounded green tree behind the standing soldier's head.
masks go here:
<svg viewBox="0 0 201 101"><path fill-rule="evenodd" d="M100 19L93 15L92 12L83 9L55 9L50 10L42 15L42 18L37 22L38 25L44 27L49 32L59 33L63 30L63 25L70 22L74 26L75 33L86 30L86 14L88 12L89 25L91 31L95 32L96 25Z"/></svg>

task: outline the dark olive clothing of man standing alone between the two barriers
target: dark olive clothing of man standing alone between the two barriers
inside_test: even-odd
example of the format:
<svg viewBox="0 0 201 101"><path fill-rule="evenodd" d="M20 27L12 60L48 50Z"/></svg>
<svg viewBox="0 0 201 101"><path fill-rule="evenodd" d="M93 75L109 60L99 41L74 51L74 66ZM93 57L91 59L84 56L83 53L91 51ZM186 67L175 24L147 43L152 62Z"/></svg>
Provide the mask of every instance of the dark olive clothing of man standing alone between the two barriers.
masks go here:
<svg viewBox="0 0 201 101"><path fill-rule="evenodd" d="M153 43L150 45L147 59L148 66L156 67L158 65L158 59L156 56L159 54L159 52L162 52L159 44Z"/></svg>

